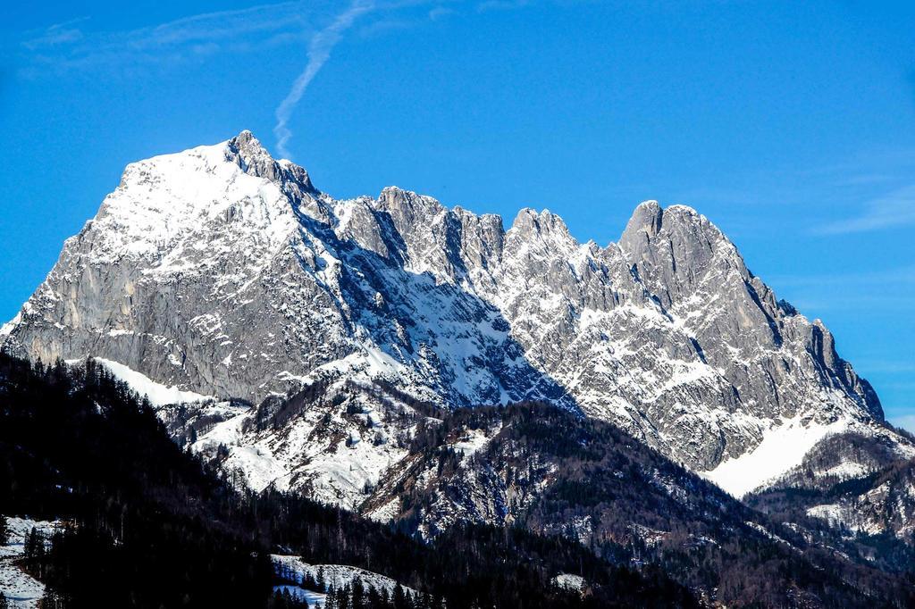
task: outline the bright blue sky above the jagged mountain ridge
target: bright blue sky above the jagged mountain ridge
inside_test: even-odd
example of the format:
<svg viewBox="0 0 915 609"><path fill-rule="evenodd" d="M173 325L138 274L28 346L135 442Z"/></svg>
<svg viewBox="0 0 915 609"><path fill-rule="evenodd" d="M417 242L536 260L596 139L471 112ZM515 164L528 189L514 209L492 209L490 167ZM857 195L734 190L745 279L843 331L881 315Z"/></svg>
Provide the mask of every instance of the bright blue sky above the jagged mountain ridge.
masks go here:
<svg viewBox="0 0 915 609"><path fill-rule="evenodd" d="M180 4L5 6L0 317L124 165L247 128L337 197L697 208L915 429L915 3Z"/></svg>

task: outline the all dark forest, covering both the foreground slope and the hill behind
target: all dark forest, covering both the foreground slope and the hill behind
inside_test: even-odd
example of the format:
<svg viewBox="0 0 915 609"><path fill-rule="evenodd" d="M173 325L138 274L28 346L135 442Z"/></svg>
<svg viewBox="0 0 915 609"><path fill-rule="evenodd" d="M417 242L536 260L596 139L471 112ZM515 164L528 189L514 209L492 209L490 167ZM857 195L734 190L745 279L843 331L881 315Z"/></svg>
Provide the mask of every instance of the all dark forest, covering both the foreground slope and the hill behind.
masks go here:
<svg viewBox="0 0 915 609"><path fill-rule="evenodd" d="M327 593L323 609L915 603L907 546L868 559L876 541L827 529L808 540L813 526L781 527L662 455L633 453L630 437L607 423L544 404L433 414L439 424L418 429L410 450L416 475L437 464L446 492L460 487L449 476L467 475L447 437L493 425L500 442L468 471L517 478L531 467L525 455L537 454L562 479L511 526L458 520L430 540L416 515L433 499L409 486L410 472L390 524L270 486L254 493L182 449L147 401L92 360L44 366L0 355L0 514L60 522L50 535L28 532L19 565L46 585L42 607L306 606L289 592L300 590L296 575L271 554L398 582L301 582ZM690 508L641 472L685 476ZM595 523L587 540L560 526L586 517ZM621 543L631 526L673 533L654 545ZM753 534L760 526L779 538ZM558 573L587 585L561 588Z"/></svg>

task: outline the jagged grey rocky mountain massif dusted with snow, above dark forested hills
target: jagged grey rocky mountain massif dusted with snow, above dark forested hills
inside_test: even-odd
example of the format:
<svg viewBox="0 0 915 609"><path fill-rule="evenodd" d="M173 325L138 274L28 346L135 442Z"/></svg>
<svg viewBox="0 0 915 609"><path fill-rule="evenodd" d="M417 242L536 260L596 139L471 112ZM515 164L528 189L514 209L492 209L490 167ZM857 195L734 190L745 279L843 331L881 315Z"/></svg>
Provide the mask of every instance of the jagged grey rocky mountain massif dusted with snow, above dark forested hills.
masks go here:
<svg viewBox="0 0 915 609"><path fill-rule="evenodd" d="M548 401L738 495L830 433L912 454L829 331L691 208L648 201L618 243L582 244L547 211L505 230L395 187L336 200L249 132L127 166L0 341L257 403L168 416L197 423L201 450L217 433L207 445L231 446L254 486L353 506L406 454L414 402ZM361 389L379 383L391 391ZM318 387L298 416L276 411ZM362 453L341 471L342 445Z"/></svg>

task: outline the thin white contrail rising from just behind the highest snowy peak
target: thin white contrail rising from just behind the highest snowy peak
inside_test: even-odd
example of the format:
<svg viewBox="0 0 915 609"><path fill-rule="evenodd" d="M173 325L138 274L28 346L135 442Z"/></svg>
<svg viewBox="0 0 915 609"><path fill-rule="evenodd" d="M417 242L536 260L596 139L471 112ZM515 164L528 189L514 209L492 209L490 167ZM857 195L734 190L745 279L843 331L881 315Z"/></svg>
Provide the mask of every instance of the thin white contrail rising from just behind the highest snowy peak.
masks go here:
<svg viewBox="0 0 915 609"><path fill-rule="evenodd" d="M289 130L287 123L289 123L289 117L292 115L293 110L296 109L296 104L305 94L308 84L328 60L330 51L337 45L343 32L352 25L353 21L371 11L374 6L374 0L354 0L350 8L339 14L332 24L322 29L311 39L308 45L308 63L305 69L298 75L292 85L292 89L286 94L285 100L276 108L274 135L276 136L276 149L280 155L285 158L291 156L286 148L286 143L292 137L292 132Z"/></svg>

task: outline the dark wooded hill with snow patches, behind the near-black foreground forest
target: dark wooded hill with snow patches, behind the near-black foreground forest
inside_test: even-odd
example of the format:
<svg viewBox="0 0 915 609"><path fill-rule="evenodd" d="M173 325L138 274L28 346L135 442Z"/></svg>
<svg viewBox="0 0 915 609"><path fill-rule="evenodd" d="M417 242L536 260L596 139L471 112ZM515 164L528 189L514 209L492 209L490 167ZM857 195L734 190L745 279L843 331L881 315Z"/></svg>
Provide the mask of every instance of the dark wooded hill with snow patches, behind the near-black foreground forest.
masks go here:
<svg viewBox="0 0 915 609"><path fill-rule="evenodd" d="M565 537L660 566L712 606L911 603L892 574L910 570L911 549L877 551L804 514L768 518L616 426L545 404L422 425L360 511L425 539L464 522Z"/></svg>

